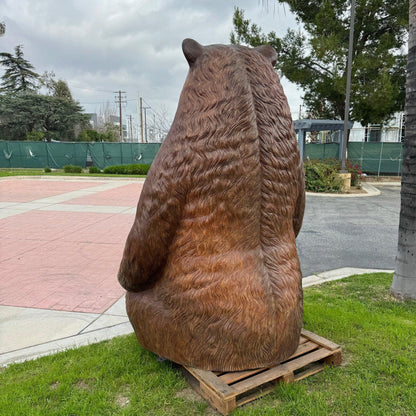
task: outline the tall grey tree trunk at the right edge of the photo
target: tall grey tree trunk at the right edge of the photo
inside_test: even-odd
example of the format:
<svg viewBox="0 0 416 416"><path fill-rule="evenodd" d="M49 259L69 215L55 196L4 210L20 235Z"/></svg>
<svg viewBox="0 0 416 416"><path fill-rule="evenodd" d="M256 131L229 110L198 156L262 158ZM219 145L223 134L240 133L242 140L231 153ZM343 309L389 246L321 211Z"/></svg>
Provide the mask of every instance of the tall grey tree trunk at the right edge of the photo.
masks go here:
<svg viewBox="0 0 416 416"><path fill-rule="evenodd" d="M409 2L406 130L403 141L399 243L391 293L416 300L416 0Z"/></svg>

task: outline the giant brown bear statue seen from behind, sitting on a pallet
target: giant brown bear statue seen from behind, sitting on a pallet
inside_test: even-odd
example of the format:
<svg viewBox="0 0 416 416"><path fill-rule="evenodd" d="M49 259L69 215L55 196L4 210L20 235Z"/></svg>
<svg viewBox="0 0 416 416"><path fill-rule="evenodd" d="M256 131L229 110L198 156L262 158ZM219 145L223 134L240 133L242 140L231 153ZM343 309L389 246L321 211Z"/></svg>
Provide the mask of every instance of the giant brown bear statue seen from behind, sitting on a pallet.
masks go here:
<svg viewBox="0 0 416 416"><path fill-rule="evenodd" d="M189 73L118 279L139 343L233 371L297 348L304 178L270 46L183 41Z"/></svg>

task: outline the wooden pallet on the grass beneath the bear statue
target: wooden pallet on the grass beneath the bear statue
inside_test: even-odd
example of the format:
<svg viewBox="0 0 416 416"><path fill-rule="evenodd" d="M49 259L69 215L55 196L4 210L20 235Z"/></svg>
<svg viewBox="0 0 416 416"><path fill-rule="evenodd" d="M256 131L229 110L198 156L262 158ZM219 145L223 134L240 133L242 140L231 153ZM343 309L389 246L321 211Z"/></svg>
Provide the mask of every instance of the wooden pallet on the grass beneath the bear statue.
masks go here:
<svg viewBox="0 0 416 416"><path fill-rule="evenodd" d="M339 345L302 329L299 347L283 363L272 368L218 373L181 367L188 383L221 414L274 390L277 383L302 380L325 365L341 364Z"/></svg>

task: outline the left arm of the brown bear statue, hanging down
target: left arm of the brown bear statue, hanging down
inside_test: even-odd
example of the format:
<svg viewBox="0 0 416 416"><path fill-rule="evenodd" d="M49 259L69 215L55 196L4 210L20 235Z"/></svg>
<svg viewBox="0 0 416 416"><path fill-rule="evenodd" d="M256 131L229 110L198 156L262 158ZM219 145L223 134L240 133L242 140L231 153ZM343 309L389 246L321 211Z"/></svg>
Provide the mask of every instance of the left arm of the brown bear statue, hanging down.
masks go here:
<svg viewBox="0 0 416 416"><path fill-rule="evenodd" d="M118 280L129 291L140 291L156 278L181 217L184 193L179 172L175 175L170 169L167 175L161 165L149 171L124 248Z"/></svg>

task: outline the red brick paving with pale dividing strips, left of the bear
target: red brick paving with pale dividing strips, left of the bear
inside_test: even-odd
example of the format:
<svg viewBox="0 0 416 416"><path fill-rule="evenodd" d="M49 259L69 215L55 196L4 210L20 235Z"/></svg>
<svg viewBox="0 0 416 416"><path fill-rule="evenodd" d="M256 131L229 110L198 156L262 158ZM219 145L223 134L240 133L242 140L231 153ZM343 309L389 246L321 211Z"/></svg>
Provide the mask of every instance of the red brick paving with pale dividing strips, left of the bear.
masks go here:
<svg viewBox="0 0 416 416"><path fill-rule="evenodd" d="M133 208L129 213L24 211L0 219L0 305L102 313L124 293L117 269L142 183L3 179L2 202L29 202L88 189L64 204ZM114 184L111 182L110 185ZM68 205L69 204L69 205ZM3 204L4 205L4 204ZM54 210L56 207L56 210ZM10 206L8 207L10 210ZM1 209L0 209L1 210Z"/></svg>

